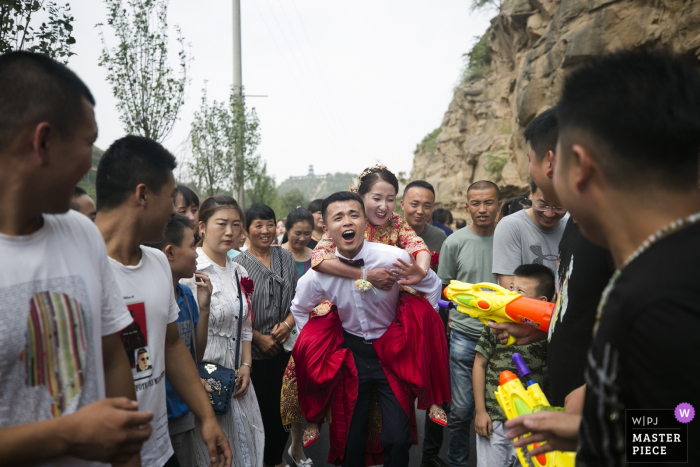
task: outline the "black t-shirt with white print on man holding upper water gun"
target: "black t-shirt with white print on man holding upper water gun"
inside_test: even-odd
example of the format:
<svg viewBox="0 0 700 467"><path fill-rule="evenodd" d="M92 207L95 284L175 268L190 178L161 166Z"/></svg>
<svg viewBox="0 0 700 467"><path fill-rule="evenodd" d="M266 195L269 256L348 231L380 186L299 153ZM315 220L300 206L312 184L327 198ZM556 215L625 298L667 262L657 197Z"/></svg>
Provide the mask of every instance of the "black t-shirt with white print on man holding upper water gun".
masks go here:
<svg viewBox="0 0 700 467"><path fill-rule="evenodd" d="M569 218L559 243L557 307L547 345L547 398L553 406L563 406L566 396L584 383L596 310L614 271L610 252L586 239Z"/></svg>

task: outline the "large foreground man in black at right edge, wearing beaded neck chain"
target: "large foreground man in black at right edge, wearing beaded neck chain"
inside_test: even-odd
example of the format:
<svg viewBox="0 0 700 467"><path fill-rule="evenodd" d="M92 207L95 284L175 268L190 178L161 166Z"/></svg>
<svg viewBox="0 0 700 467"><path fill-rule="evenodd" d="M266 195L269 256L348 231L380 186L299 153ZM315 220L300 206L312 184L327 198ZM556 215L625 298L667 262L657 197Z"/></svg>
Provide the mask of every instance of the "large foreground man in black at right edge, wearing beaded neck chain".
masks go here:
<svg viewBox="0 0 700 467"><path fill-rule="evenodd" d="M626 411L700 407L700 72L660 52L593 58L567 76L557 118L554 188L617 271L594 326L582 416L540 412L506 426L510 438L532 433L515 446L548 441L533 455L578 448L577 466L625 465ZM675 429L698 465L689 423Z"/></svg>

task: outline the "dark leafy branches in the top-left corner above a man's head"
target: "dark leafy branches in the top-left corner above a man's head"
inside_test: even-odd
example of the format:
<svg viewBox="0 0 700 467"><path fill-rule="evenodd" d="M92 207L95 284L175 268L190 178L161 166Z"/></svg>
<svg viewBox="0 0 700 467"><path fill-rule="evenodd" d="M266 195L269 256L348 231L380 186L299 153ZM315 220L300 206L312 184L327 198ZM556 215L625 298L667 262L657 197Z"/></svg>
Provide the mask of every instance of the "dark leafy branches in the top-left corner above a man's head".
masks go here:
<svg viewBox="0 0 700 467"><path fill-rule="evenodd" d="M36 15L48 16L35 29ZM63 63L75 55L70 5L52 1L0 0L0 54L13 50L40 52Z"/></svg>

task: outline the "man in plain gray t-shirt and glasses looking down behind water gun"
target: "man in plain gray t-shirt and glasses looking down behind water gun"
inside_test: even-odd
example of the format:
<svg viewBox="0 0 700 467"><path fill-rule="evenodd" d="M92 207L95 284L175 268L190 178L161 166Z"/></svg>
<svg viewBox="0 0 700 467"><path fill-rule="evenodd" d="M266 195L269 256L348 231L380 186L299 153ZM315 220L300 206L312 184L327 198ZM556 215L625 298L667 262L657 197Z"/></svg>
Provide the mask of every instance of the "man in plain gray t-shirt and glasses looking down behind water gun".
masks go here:
<svg viewBox="0 0 700 467"><path fill-rule="evenodd" d="M532 208L501 219L494 234L492 272L505 288L510 288L513 271L521 264L542 264L557 273L566 209L547 203L536 185L532 193Z"/></svg>

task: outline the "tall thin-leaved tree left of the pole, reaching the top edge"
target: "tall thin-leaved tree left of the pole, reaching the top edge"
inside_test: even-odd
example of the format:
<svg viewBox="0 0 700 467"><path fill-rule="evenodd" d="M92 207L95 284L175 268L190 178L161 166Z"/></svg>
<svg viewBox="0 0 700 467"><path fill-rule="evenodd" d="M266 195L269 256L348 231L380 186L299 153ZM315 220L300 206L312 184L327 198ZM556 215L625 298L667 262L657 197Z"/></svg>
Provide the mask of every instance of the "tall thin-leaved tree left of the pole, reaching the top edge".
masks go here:
<svg viewBox="0 0 700 467"><path fill-rule="evenodd" d="M179 76L168 64L168 1L105 0L107 24L118 45L109 49L100 30L103 50L99 65L117 98L117 110L127 133L162 142L170 135L184 103L189 56L178 26ZM98 24L102 26L102 24Z"/></svg>

